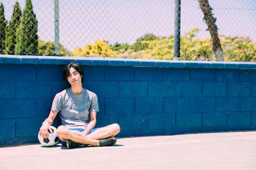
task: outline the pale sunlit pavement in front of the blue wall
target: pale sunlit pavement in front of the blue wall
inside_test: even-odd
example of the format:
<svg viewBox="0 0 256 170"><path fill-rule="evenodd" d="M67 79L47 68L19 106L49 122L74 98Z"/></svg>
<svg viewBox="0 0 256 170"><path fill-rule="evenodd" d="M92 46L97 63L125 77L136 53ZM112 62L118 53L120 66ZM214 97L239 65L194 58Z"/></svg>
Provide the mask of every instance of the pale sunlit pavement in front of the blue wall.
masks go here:
<svg viewBox="0 0 256 170"><path fill-rule="evenodd" d="M114 146L0 147L0 170L255 170L256 131L119 138Z"/></svg>

